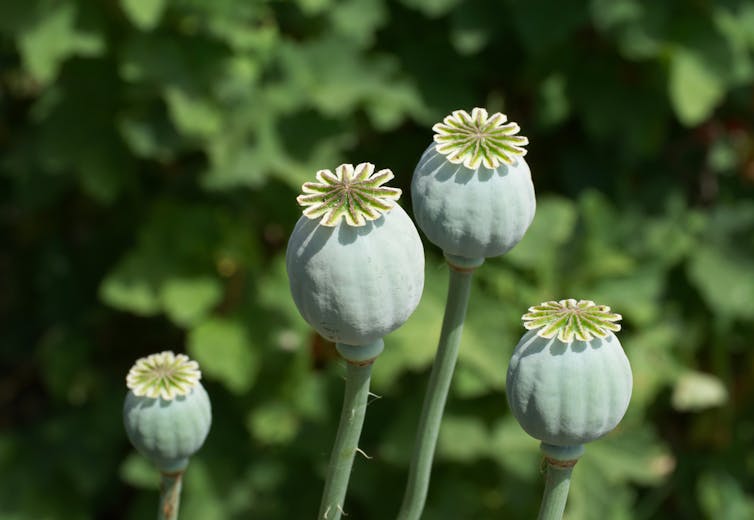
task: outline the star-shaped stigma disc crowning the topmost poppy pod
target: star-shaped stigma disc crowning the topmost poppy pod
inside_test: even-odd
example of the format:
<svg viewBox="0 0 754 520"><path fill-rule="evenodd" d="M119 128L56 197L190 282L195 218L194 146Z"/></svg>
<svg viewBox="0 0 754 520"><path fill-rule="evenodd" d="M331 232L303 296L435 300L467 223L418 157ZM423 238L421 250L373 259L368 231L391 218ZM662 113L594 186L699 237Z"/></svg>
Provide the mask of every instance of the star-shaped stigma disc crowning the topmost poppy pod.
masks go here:
<svg viewBox="0 0 754 520"><path fill-rule="evenodd" d="M500 164L513 164L517 157L526 155L523 148L529 140L516 135L520 128L514 122L506 123L505 114L491 116L483 108L471 114L456 110L432 127L435 131L435 149L453 164L463 164L471 170L480 165L491 170Z"/></svg>

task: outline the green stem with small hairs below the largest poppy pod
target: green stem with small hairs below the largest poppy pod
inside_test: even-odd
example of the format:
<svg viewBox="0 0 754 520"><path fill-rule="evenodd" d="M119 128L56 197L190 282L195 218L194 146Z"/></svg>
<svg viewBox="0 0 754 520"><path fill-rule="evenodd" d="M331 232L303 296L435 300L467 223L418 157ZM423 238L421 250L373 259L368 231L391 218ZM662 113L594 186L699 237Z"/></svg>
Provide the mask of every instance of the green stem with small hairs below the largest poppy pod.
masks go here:
<svg viewBox="0 0 754 520"><path fill-rule="evenodd" d="M347 363L343 409L335 445L330 455L330 465L327 468L325 490L318 516L320 520L337 520L343 514L348 480L351 477L353 459L359 449L359 437L364 425L371 374L371 361L363 364Z"/></svg>

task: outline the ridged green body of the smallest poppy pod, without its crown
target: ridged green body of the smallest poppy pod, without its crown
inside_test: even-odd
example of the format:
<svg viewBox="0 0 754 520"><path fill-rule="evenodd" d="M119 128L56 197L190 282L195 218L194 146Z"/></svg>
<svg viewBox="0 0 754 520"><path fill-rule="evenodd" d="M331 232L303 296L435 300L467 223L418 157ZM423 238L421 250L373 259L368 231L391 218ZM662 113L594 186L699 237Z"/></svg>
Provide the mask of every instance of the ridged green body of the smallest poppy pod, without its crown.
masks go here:
<svg viewBox="0 0 754 520"><path fill-rule="evenodd" d="M212 423L209 396L201 383L172 400L126 395L123 423L131 444L162 471L188 464L207 438Z"/></svg>

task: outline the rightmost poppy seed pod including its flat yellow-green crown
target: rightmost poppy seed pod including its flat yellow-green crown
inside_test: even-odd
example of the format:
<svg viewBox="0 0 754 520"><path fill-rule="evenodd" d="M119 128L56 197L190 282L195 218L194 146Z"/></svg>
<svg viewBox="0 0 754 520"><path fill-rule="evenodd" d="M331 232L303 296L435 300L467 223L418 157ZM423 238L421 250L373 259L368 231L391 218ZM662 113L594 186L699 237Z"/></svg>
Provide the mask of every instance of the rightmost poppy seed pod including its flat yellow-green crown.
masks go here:
<svg viewBox="0 0 754 520"><path fill-rule="evenodd" d="M617 426L631 399L632 376L613 331L619 314L589 300L550 301L523 316L529 330L516 346L508 404L532 437L575 446Z"/></svg>

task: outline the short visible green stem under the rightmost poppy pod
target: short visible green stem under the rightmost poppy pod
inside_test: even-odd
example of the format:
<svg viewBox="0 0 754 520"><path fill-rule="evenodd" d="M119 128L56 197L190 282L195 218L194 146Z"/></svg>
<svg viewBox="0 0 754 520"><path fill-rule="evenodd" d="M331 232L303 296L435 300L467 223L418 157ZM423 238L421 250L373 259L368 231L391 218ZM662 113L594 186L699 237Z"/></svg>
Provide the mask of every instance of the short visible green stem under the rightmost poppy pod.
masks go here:
<svg viewBox="0 0 754 520"><path fill-rule="evenodd" d="M547 475L537 520L561 520L571 487L571 473L584 452L582 445L552 446L542 443Z"/></svg>

